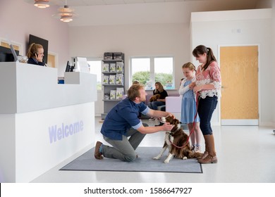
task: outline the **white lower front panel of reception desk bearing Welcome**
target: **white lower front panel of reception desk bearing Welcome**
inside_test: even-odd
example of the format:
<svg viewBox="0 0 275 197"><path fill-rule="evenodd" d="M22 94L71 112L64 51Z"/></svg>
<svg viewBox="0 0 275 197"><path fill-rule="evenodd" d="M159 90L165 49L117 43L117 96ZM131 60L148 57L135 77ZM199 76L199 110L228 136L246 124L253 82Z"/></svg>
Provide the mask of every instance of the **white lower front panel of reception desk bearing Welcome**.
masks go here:
<svg viewBox="0 0 275 197"><path fill-rule="evenodd" d="M30 182L75 153L94 145L94 103L11 115L15 122L16 146L8 153L16 166L11 182ZM12 138L12 136L10 137ZM12 145L12 144L11 144ZM27 162L26 162L27 161ZM6 182L6 180L4 180Z"/></svg>

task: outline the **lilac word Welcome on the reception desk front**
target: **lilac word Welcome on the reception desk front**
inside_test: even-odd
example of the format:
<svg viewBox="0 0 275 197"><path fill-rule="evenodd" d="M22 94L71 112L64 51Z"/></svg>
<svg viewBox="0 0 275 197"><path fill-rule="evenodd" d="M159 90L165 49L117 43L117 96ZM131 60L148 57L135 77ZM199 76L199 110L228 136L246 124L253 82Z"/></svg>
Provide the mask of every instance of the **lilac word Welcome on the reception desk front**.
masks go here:
<svg viewBox="0 0 275 197"><path fill-rule="evenodd" d="M65 125L62 123L61 127L57 127L57 125L53 125L49 127L49 142L53 143L57 140L64 139L68 136L72 136L74 134L78 134L83 131L83 121L74 122L70 125Z"/></svg>

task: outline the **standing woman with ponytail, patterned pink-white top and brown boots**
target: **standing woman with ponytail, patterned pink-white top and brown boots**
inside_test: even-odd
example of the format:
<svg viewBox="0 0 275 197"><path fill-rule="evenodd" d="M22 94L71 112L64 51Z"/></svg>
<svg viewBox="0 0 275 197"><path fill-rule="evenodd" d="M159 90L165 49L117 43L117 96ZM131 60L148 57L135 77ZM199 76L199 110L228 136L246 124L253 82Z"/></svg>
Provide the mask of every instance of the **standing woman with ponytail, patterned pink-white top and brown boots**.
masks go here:
<svg viewBox="0 0 275 197"><path fill-rule="evenodd" d="M217 163L214 136L211 127L212 114L221 96L221 72L212 49L199 45L193 50L193 56L201 65L196 72L195 94L199 94L197 113L200 116L200 129L204 136L205 151L199 163Z"/></svg>

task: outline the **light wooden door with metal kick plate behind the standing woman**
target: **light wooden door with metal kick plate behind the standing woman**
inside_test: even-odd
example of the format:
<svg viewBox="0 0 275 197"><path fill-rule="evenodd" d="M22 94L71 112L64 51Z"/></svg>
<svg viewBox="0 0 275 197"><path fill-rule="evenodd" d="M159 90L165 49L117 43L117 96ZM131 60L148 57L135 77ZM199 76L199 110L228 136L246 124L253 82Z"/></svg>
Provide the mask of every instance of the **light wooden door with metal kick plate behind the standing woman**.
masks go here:
<svg viewBox="0 0 275 197"><path fill-rule="evenodd" d="M221 125L258 125L258 46L220 47Z"/></svg>

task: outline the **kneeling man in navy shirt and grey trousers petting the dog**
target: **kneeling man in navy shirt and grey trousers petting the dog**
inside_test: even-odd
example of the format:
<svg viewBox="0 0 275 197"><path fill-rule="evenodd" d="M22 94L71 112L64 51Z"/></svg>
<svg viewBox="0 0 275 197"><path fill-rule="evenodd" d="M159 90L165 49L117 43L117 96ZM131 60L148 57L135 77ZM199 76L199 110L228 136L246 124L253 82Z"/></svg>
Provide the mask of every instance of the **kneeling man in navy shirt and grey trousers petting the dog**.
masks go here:
<svg viewBox="0 0 275 197"><path fill-rule="evenodd" d="M171 113L152 110L143 103L146 101L146 91L142 84L134 84L128 89L128 97L120 101L106 115L101 133L104 140L111 146L97 141L94 150L94 157L97 159L114 158L123 161L133 161L138 155L135 149L146 134L160 131L170 131L173 125L164 123L158 127L148 127L138 118L139 113L149 117L173 116Z"/></svg>

